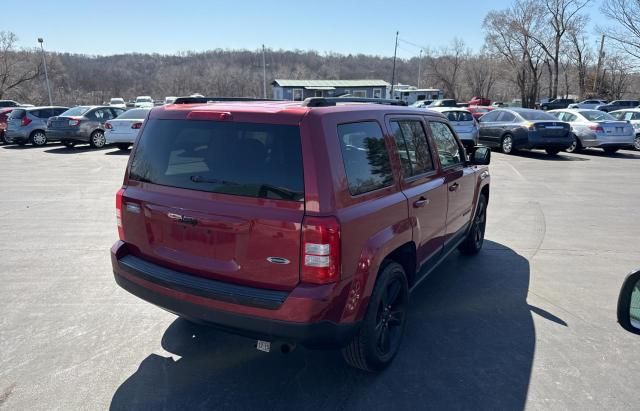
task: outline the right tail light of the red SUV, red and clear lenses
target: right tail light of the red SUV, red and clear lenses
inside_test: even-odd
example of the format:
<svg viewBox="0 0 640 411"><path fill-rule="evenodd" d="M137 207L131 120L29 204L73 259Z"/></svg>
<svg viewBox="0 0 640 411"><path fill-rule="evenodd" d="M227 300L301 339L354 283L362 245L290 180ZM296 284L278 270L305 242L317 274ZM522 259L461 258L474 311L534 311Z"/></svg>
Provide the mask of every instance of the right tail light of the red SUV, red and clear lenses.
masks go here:
<svg viewBox="0 0 640 411"><path fill-rule="evenodd" d="M328 284L339 278L340 223L334 217L305 217L302 222L302 282Z"/></svg>

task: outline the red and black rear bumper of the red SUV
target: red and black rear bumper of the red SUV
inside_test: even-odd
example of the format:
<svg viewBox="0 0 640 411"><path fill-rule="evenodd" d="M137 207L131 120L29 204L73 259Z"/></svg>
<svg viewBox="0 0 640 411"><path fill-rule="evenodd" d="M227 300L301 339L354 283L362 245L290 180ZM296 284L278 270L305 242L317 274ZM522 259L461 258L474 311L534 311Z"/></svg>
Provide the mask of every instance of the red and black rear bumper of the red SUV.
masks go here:
<svg viewBox="0 0 640 411"><path fill-rule="evenodd" d="M308 290L296 293L295 289L280 292L235 286L179 273L136 257L133 258L143 263L131 264L135 260L126 248L125 243L118 241L111 249L116 283L131 294L189 320L232 334L299 343L310 348L344 346L358 330L358 322L337 323L322 318L298 322L278 318L292 316L287 314L291 312L304 313L299 308L305 306L308 309L327 305L333 299L321 297L324 292L314 295ZM307 301L301 301L305 296ZM313 310L306 312L310 315Z"/></svg>

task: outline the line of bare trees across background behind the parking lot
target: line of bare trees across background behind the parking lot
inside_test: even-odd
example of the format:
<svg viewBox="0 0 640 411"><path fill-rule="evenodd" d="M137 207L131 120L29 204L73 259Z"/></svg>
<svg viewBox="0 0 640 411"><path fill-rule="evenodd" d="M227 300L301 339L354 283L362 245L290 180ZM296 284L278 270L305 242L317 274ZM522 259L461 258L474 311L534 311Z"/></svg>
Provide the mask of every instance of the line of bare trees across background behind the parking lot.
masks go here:
<svg viewBox="0 0 640 411"><path fill-rule="evenodd" d="M637 97L640 75L640 0L604 0L603 51L594 44L587 7L592 0L514 0L484 18L485 44L469 49L454 38L437 49L403 40L419 56L398 59L396 81L439 88L460 101L472 96L520 100L533 107L541 98L576 96L609 100ZM39 50L19 49L14 33L0 32L0 99L48 102ZM209 50L164 54L91 56L48 52L55 104L99 104L111 97L151 95L262 97L261 50ZM391 57L266 50L266 78L385 79ZM267 85L267 97L271 87Z"/></svg>

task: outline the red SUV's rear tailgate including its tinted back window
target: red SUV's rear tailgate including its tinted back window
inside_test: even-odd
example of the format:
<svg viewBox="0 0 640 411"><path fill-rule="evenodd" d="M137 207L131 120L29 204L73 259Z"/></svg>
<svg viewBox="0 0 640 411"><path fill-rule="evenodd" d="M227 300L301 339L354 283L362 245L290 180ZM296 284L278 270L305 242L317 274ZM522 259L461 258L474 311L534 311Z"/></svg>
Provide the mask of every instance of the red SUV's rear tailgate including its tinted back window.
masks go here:
<svg viewBox="0 0 640 411"><path fill-rule="evenodd" d="M132 253L237 284L298 284L297 126L152 119L133 156L122 207Z"/></svg>

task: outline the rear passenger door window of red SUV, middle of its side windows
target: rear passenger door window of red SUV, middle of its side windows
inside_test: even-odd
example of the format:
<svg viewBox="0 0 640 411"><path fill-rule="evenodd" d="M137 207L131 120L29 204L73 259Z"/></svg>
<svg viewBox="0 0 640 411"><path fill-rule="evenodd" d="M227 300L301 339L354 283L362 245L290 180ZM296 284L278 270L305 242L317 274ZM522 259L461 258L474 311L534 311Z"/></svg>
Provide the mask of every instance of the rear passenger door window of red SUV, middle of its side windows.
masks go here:
<svg viewBox="0 0 640 411"><path fill-rule="evenodd" d="M391 132L398 147L404 177L412 177L434 170L427 135L422 123L416 120L392 121Z"/></svg>

